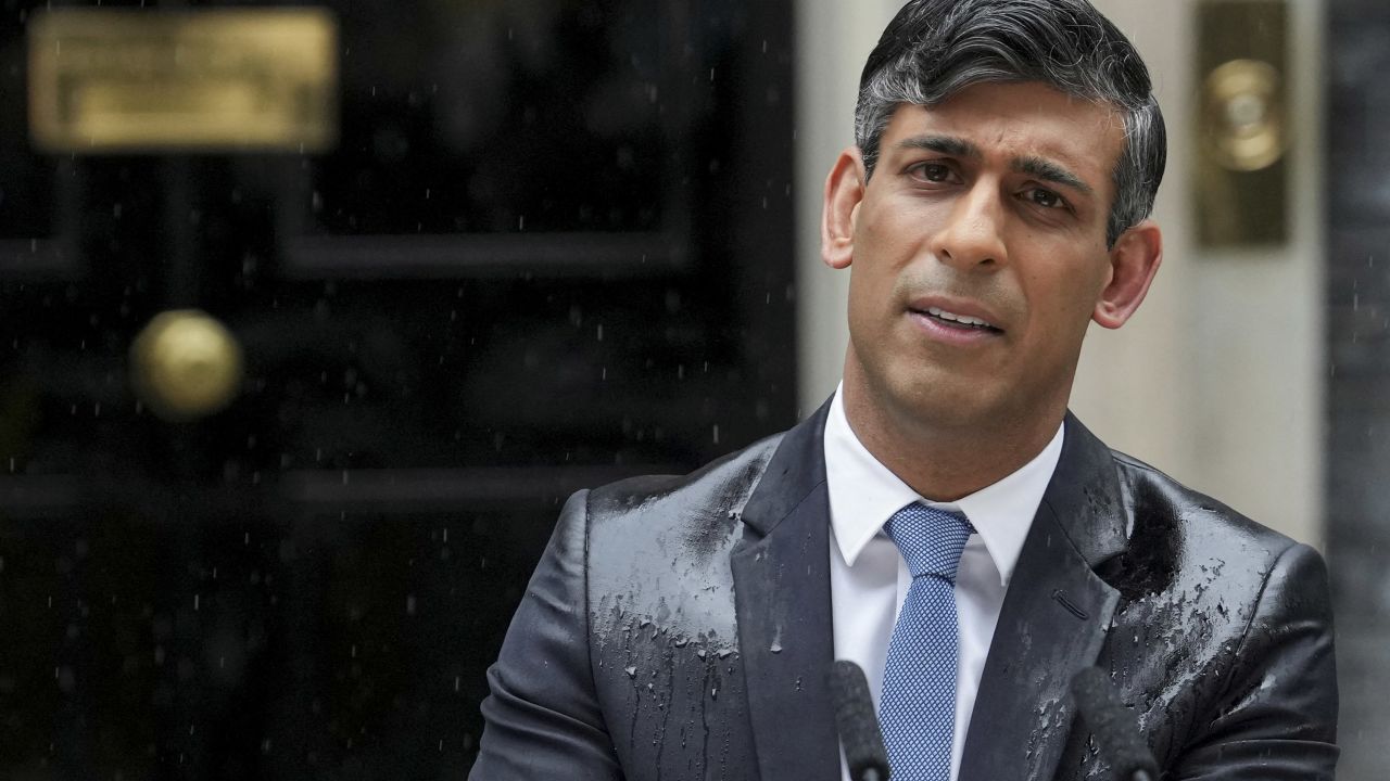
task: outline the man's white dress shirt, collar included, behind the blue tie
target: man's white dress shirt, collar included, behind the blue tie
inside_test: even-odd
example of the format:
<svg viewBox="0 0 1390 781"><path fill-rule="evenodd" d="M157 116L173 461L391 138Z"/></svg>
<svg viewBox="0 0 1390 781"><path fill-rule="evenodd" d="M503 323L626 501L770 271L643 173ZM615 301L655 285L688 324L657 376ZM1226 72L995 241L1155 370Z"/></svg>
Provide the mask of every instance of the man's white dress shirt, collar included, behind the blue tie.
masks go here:
<svg viewBox="0 0 1390 781"><path fill-rule="evenodd" d="M994 625L1004 606L1004 592L1013 577L1023 541L1042 492L1062 454L1062 429L1041 453L1009 477L956 502L927 502L878 463L855 436L845 417L844 386L835 390L826 418L826 479L830 495L830 603L835 659L848 659L865 670L874 706L883 689L883 668L898 610L908 596L912 575L883 524L913 502L965 513L970 535L956 571L956 618L960 653L956 671L955 738L951 778L960 773L960 752L974 712L984 660L990 655ZM924 457L930 457L926 454ZM944 456L949 457L949 454ZM841 757L841 775L849 770Z"/></svg>

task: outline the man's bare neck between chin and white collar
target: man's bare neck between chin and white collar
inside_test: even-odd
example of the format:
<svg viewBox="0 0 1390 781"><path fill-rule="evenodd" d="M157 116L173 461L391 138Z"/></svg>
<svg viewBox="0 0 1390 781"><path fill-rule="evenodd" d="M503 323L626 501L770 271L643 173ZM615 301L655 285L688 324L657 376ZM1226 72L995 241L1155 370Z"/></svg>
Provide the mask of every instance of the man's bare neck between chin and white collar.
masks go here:
<svg viewBox="0 0 1390 781"><path fill-rule="evenodd" d="M934 502L955 502L1023 468L1047 447L1066 414L1002 420L991 425L922 421L895 414L847 382L845 417L874 459L898 479Z"/></svg>

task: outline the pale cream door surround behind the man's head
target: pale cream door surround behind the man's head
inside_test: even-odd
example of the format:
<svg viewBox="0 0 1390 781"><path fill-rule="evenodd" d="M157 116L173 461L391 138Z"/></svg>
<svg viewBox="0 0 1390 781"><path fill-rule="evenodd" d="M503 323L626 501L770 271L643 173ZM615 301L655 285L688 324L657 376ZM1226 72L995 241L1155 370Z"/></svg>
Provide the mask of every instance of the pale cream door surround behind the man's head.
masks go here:
<svg viewBox="0 0 1390 781"><path fill-rule="evenodd" d="M1155 217L1166 252L1148 300L1118 332L1093 328L1073 410L1111 446L1298 539L1323 536L1323 238L1320 83L1325 0L1291 0L1291 242L1198 250L1188 211L1194 7L1200 0L1094 0L1155 78L1169 163ZM855 88L897 0L801 0L796 214L801 404L840 378L848 275L819 261L821 186L852 143Z"/></svg>

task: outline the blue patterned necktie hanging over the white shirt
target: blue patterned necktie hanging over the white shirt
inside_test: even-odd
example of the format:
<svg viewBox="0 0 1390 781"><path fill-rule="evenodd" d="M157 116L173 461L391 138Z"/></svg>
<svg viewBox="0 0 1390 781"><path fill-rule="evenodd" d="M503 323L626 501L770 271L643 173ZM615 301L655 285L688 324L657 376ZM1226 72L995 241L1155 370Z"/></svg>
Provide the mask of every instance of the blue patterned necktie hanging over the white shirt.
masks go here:
<svg viewBox="0 0 1390 781"><path fill-rule="evenodd" d="M955 735L955 575L974 529L965 516L915 502L883 527L912 586L883 671L878 721L892 781L948 781Z"/></svg>

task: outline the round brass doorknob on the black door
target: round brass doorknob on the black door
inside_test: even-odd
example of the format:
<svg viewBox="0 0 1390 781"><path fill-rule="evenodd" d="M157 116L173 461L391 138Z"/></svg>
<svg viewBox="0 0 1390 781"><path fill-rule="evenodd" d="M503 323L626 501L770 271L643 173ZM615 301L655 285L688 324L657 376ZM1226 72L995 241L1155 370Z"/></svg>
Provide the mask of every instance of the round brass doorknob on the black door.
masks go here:
<svg viewBox="0 0 1390 781"><path fill-rule="evenodd" d="M199 310L161 313L131 345L132 384L150 410L183 422L225 409L242 382L242 347Z"/></svg>

